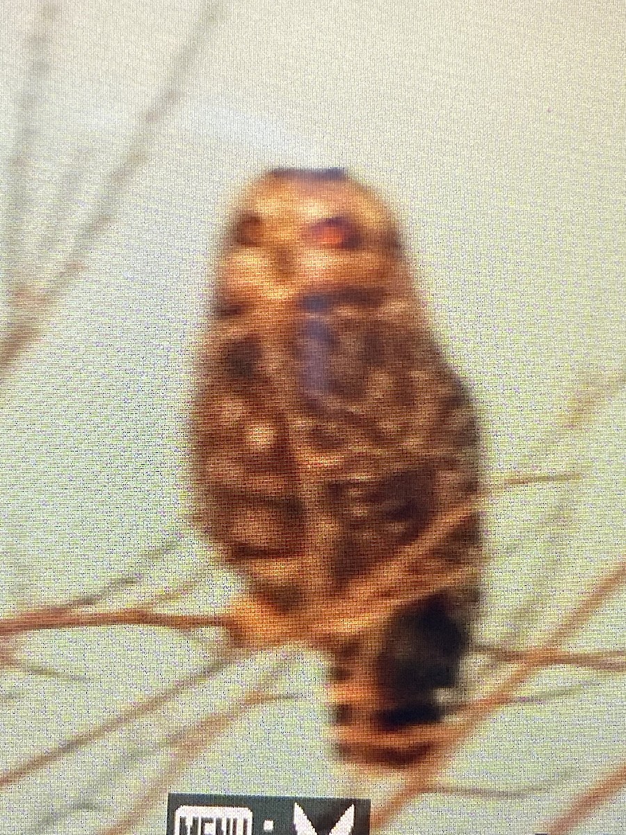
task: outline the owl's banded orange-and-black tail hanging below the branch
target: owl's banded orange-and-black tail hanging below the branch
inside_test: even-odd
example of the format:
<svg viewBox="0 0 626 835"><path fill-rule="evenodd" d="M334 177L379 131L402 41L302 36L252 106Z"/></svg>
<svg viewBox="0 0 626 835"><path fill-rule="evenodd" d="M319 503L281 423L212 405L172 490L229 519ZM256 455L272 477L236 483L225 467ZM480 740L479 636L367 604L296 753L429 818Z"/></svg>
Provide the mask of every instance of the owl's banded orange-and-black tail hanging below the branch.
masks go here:
<svg viewBox="0 0 626 835"><path fill-rule="evenodd" d="M331 670L341 757L387 767L426 757L445 736L468 632L456 601L433 595L341 645Z"/></svg>

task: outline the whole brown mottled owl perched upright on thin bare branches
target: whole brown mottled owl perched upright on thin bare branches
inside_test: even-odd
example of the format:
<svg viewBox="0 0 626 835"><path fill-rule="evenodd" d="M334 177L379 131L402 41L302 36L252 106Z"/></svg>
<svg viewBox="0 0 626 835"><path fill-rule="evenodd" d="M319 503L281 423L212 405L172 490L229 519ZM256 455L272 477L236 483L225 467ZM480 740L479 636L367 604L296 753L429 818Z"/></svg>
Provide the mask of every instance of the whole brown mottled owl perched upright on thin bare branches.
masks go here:
<svg viewBox="0 0 626 835"><path fill-rule="evenodd" d="M477 611L477 418L391 212L343 170L272 170L236 206L189 436L194 519L248 584L235 640L321 650L341 757L419 762Z"/></svg>

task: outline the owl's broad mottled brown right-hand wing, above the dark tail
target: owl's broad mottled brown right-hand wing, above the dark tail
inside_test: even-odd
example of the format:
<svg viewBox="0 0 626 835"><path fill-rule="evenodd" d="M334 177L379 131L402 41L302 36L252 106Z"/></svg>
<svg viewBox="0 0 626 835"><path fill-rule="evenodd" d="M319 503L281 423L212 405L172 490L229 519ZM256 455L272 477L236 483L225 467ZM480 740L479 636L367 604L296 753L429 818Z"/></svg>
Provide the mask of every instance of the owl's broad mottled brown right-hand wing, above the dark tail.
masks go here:
<svg viewBox="0 0 626 835"><path fill-rule="evenodd" d="M480 562L474 404L414 307L342 304L302 328L310 455L320 469L335 461L324 484L336 520L328 569L353 615L380 618L461 584ZM323 376L307 357L325 357Z"/></svg>

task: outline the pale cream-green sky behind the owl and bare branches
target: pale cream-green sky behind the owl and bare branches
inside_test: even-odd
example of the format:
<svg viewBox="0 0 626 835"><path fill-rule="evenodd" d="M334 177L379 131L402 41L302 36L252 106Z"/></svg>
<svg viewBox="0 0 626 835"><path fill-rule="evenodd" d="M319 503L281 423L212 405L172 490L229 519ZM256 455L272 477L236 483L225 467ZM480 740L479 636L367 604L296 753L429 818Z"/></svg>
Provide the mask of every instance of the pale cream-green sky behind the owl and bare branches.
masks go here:
<svg viewBox="0 0 626 835"><path fill-rule="evenodd" d="M3 195L37 5L0 4ZM39 275L54 264L38 253L38 240L59 214L55 195L74 172L76 194L61 200L68 244L200 4L53 5L52 71L21 261ZM184 96L129 182L116 222L5 387L6 607L98 589L180 527L185 398L210 263L228 206L269 166L346 166L396 208L433 321L476 392L489 473L522 462L563 416L574 387L624 368L625 55L626 7L611 0L216 4ZM8 203L0 202L4 230ZM623 550L625 443L622 394L582 443L564 443L547 460L548 469L568 468L578 456L588 468L581 486L517 491L494 503L488 635L497 636L510 607L532 593L547 555L559 561L549 569L550 605L540 620L558 617ZM559 499L571 528L562 519L542 528L542 514ZM516 535L521 542L509 548ZM156 588L206 558L206 547L186 534L148 582ZM224 605L236 585L215 571L187 609ZM588 625L581 646L623 646L623 602ZM0 720L8 723L0 742L6 763L46 750L200 658L189 640L154 630L33 635L25 647L33 663L87 681L9 674L0 693L17 696L7 702L11 718ZM257 676L260 664L245 676ZM545 681L583 677L566 672ZM202 715L236 692L241 676L200 689L163 722ZM341 795L346 778L326 759L322 676L321 660L297 656L290 686L312 695L244 717L174 789ZM570 782L517 801L422 798L386 835L542 831L577 787L616 761L625 707L623 686L608 677L582 696L502 711L453 776L468 786L515 788L572 768ZM133 732L134 741L154 739L149 722ZM67 757L0 793L0 804L27 803L28 832L100 832L132 793L130 738ZM137 773L154 767L137 756ZM164 832L163 810L133 832ZM624 817L622 795L577 832L617 835ZM0 835L13 831L0 815Z"/></svg>

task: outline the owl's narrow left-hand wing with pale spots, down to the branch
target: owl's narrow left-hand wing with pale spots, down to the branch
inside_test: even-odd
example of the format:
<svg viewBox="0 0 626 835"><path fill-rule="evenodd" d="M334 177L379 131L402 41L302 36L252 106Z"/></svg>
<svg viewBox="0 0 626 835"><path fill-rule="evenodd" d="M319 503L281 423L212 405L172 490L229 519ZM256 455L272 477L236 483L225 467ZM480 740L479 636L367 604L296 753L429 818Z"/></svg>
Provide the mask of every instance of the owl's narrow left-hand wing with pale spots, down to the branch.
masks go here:
<svg viewBox="0 0 626 835"><path fill-rule="evenodd" d="M255 321L221 316L201 344L189 423L194 520L250 584L231 631L245 645L300 632L303 519L285 416Z"/></svg>

